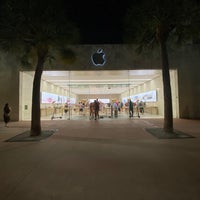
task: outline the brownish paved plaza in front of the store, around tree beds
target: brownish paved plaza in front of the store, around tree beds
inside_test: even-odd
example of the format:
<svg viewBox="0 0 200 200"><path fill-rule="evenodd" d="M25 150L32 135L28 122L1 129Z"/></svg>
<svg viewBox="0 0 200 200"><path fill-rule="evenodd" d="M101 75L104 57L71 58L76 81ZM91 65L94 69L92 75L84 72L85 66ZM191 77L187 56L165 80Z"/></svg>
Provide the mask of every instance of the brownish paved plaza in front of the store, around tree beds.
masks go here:
<svg viewBox="0 0 200 200"><path fill-rule="evenodd" d="M199 200L200 120L174 120L190 139L157 139L162 119L42 121L55 133L5 142L30 122L0 122L1 200Z"/></svg>

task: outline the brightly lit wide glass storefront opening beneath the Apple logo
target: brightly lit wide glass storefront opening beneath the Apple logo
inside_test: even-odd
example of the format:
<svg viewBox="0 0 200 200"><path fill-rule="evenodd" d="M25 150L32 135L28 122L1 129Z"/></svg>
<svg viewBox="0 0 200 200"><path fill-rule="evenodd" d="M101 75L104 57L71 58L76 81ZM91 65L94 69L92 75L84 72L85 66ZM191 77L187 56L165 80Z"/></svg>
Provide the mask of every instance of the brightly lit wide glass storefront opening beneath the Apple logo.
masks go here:
<svg viewBox="0 0 200 200"><path fill-rule="evenodd" d="M31 120L33 75L20 72L21 120ZM174 117L179 117L177 71L171 70L170 76ZM90 120L89 104L95 99L100 102L100 119L128 118L128 99L144 104L141 117L163 117L161 70L43 72L42 120Z"/></svg>

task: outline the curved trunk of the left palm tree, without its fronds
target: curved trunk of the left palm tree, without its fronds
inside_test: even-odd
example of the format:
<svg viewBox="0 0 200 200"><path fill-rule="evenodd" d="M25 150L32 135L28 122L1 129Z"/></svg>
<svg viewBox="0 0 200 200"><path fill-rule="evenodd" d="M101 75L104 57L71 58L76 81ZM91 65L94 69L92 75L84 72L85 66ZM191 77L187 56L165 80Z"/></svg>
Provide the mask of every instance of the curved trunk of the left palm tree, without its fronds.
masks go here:
<svg viewBox="0 0 200 200"><path fill-rule="evenodd" d="M31 131L30 131L31 136L38 136L41 134L40 83L47 52L48 49L45 47L38 48L37 52L38 62L36 65L35 76L33 80L33 92L32 92L32 119L31 119Z"/></svg>

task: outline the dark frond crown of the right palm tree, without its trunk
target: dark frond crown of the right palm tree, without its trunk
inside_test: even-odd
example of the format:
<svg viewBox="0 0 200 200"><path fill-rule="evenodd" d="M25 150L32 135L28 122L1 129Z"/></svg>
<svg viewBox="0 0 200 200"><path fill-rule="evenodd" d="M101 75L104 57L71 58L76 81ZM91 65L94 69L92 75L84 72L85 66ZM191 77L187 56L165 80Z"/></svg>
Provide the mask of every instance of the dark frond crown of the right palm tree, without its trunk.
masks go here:
<svg viewBox="0 0 200 200"><path fill-rule="evenodd" d="M125 42L138 44L138 52L156 46L156 31L165 28L169 42L182 44L200 35L200 7L191 0L141 0L125 18ZM164 31L164 29L162 30Z"/></svg>

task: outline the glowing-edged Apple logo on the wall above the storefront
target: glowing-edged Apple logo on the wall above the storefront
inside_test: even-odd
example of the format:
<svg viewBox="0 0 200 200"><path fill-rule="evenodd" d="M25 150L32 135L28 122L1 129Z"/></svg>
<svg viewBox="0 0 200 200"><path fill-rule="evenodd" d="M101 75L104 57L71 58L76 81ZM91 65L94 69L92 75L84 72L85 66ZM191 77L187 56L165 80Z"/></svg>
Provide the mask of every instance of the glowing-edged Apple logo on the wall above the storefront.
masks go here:
<svg viewBox="0 0 200 200"><path fill-rule="evenodd" d="M95 53L92 54L91 60L95 66L104 66L106 63L106 55L103 52L103 49L98 49Z"/></svg>

